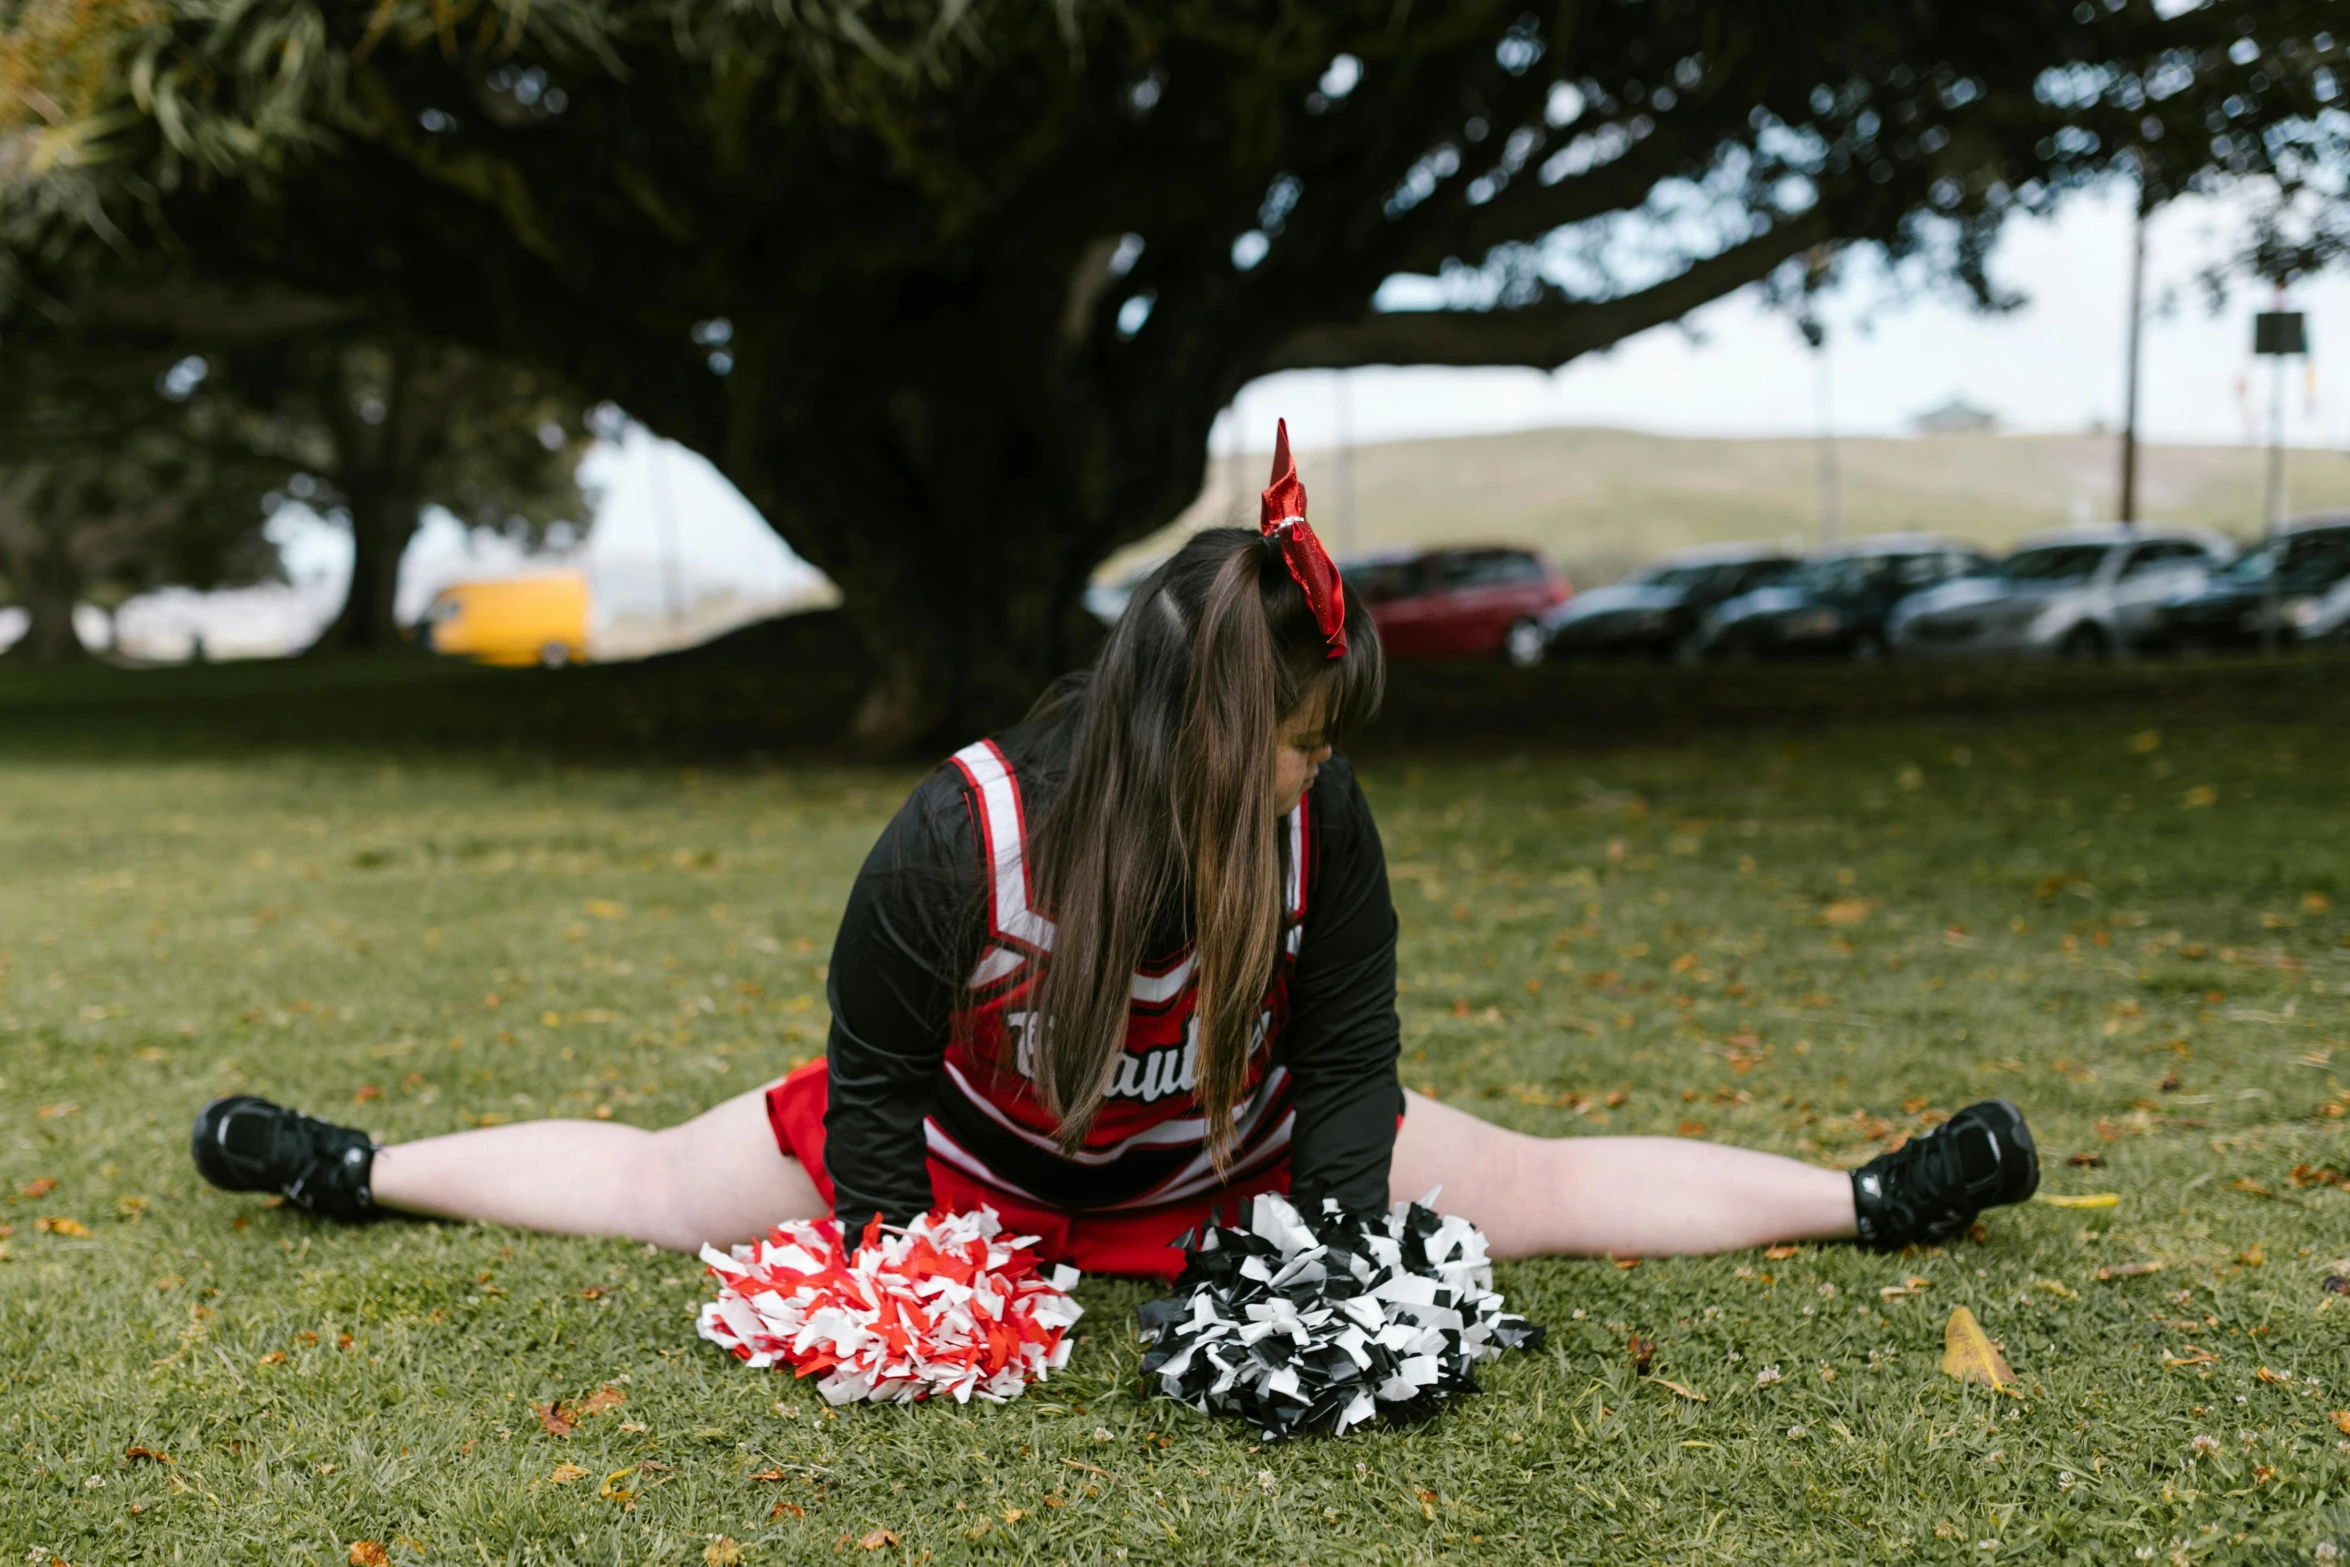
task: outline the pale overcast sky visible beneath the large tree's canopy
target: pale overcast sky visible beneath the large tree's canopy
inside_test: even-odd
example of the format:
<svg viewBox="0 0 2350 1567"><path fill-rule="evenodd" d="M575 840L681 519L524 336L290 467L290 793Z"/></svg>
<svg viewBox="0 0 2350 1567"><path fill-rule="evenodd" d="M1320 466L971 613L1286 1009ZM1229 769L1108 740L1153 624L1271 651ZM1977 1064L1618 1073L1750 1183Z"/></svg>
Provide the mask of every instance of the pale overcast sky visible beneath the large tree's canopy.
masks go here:
<svg viewBox="0 0 2350 1567"><path fill-rule="evenodd" d="M2251 312L2240 294L2211 315L2195 277L2237 233L2221 202L2181 202L2150 228L2143 430L2162 442L2242 442L2268 409L2268 374L2254 376ZM1995 256L2021 310L1986 317L1948 294L1894 298L1887 280L1856 268L1826 308L1831 418L1842 435L1901 435L1908 418L1950 397L1995 411L2012 430L2075 432L2122 413L2122 343L2129 282L2129 211L2120 197L2077 197L2054 221L2014 223ZM2350 444L2350 280L2319 280L2294 301L2308 310L2315 376L2294 366L2287 435L2296 444ZM1560 371L1365 369L1347 374L1356 442L1473 435L1537 425L1622 425L1668 435L1812 435L1819 362L1793 324L1753 291L1657 327ZM1271 446L1285 416L1302 446L1340 439L1340 378L1290 374L1243 390L1217 425L1250 451ZM799 566L766 524L698 456L634 432L590 458L606 489L592 545L599 592L658 601L660 552L674 526L686 594L785 585ZM348 545L317 529L296 569L334 573ZM432 529L409 559L409 597L489 561L468 561L454 524Z"/></svg>

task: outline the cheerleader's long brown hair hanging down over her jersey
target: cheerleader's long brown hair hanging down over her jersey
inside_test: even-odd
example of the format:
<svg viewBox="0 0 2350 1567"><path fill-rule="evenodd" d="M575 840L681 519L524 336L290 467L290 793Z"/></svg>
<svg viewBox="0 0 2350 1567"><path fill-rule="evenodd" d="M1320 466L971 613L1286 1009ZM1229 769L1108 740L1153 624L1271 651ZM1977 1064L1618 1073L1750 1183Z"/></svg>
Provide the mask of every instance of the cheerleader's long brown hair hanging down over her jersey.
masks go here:
<svg viewBox="0 0 2350 1567"><path fill-rule="evenodd" d="M1379 637L1351 594L1347 653L1330 658L1281 557L1255 531L1208 529L1142 578L1086 679L1039 705L1036 717L1076 721L1067 780L1029 848L1055 923L1034 1081L1062 1146L1102 1109L1130 975L1177 914L1198 961L1196 1095L1208 1154L1227 1168L1281 949L1281 724L1323 702L1323 733L1349 733L1384 686Z"/></svg>

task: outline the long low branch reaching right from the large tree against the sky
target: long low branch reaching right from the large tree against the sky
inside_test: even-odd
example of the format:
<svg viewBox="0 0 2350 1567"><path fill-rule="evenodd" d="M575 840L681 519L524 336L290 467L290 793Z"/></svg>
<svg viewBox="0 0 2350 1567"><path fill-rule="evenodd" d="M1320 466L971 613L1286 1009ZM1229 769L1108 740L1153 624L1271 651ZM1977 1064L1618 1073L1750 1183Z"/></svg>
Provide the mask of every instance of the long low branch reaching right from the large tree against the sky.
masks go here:
<svg viewBox="0 0 2350 1567"><path fill-rule="evenodd" d="M1290 334L1257 374L1358 364L1530 364L1556 369L1767 277L1831 237L1819 209L1732 244L1638 294L1523 310L1389 310Z"/></svg>

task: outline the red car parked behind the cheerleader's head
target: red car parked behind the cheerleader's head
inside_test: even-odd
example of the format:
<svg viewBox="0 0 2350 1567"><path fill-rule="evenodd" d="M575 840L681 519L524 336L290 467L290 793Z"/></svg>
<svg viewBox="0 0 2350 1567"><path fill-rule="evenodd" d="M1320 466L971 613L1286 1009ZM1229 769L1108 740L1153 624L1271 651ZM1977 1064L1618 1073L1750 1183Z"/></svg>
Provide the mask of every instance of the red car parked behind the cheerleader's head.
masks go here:
<svg viewBox="0 0 2350 1567"><path fill-rule="evenodd" d="M1542 611L1574 587L1532 550L1394 550L1342 566L1394 658L1542 663Z"/></svg>

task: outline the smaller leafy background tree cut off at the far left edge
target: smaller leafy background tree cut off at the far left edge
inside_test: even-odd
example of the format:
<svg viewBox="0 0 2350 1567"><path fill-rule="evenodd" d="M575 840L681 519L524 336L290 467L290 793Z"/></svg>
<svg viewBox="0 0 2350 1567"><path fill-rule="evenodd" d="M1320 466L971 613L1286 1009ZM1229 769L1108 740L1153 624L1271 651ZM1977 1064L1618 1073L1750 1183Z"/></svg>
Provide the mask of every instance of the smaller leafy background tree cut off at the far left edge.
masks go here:
<svg viewBox="0 0 2350 1567"><path fill-rule="evenodd" d="M251 409L204 388L200 359L5 369L0 599L28 616L12 655L87 655L80 604L280 576L263 496L287 468Z"/></svg>

